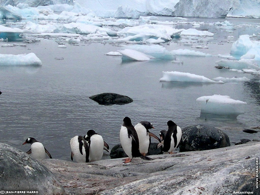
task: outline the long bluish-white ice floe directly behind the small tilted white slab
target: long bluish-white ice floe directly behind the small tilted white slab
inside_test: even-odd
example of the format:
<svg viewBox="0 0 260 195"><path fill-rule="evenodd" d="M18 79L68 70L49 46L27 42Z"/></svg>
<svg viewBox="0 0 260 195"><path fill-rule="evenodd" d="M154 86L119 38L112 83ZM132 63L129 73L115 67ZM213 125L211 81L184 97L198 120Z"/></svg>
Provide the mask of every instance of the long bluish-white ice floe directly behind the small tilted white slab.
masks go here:
<svg viewBox="0 0 260 195"><path fill-rule="evenodd" d="M153 56L154 58L175 60L176 57L173 53L166 50L162 45L129 45L127 49L133 49L145 53L146 55Z"/></svg>

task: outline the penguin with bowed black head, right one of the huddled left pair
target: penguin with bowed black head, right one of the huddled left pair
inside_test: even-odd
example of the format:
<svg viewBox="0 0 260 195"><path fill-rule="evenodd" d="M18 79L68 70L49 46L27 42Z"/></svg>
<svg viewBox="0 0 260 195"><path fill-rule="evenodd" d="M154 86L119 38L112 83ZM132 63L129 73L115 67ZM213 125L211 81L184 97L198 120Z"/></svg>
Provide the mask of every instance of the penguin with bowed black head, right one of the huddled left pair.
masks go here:
<svg viewBox="0 0 260 195"><path fill-rule="evenodd" d="M103 149L106 151L109 149L108 144L104 142L102 136L96 133L94 130L89 130L87 135L84 136L84 139L89 146L89 162L101 160L103 156ZM107 149L105 149L104 146Z"/></svg>

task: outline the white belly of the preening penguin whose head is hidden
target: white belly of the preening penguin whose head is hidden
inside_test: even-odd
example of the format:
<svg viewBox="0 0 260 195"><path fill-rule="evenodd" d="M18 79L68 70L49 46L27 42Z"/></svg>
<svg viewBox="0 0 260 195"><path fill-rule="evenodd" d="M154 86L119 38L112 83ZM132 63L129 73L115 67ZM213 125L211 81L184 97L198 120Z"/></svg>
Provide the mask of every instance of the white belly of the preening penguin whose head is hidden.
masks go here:
<svg viewBox="0 0 260 195"><path fill-rule="evenodd" d="M73 158L75 159L75 161L78 162L78 163L85 163L86 162L85 148L84 148L84 146L82 147L82 153L83 153L83 155L82 155L80 153L80 149L79 149L78 137L79 136L75 136L75 137L70 139L70 148L71 148L71 151L74 154Z"/></svg>

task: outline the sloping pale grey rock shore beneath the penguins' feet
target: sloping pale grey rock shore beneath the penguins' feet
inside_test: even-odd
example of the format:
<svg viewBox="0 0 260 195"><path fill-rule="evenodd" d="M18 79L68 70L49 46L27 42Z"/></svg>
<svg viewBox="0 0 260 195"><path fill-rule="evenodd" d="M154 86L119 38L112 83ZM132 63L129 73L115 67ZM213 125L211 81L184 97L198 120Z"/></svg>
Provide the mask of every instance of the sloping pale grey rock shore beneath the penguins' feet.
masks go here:
<svg viewBox="0 0 260 195"><path fill-rule="evenodd" d="M74 163L39 160L60 181L66 194L233 194L256 189L260 143L214 150Z"/></svg>

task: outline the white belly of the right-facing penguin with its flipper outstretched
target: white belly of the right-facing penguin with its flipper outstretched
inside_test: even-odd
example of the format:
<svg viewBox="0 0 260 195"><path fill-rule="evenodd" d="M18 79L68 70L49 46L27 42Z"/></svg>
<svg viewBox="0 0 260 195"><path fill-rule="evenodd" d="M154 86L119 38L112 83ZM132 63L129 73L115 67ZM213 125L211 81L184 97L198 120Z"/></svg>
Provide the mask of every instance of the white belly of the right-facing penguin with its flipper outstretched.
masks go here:
<svg viewBox="0 0 260 195"><path fill-rule="evenodd" d="M139 139L139 149L141 154L147 154L150 144L150 136L147 133L146 128L141 123L138 123L134 126L138 139Z"/></svg>

